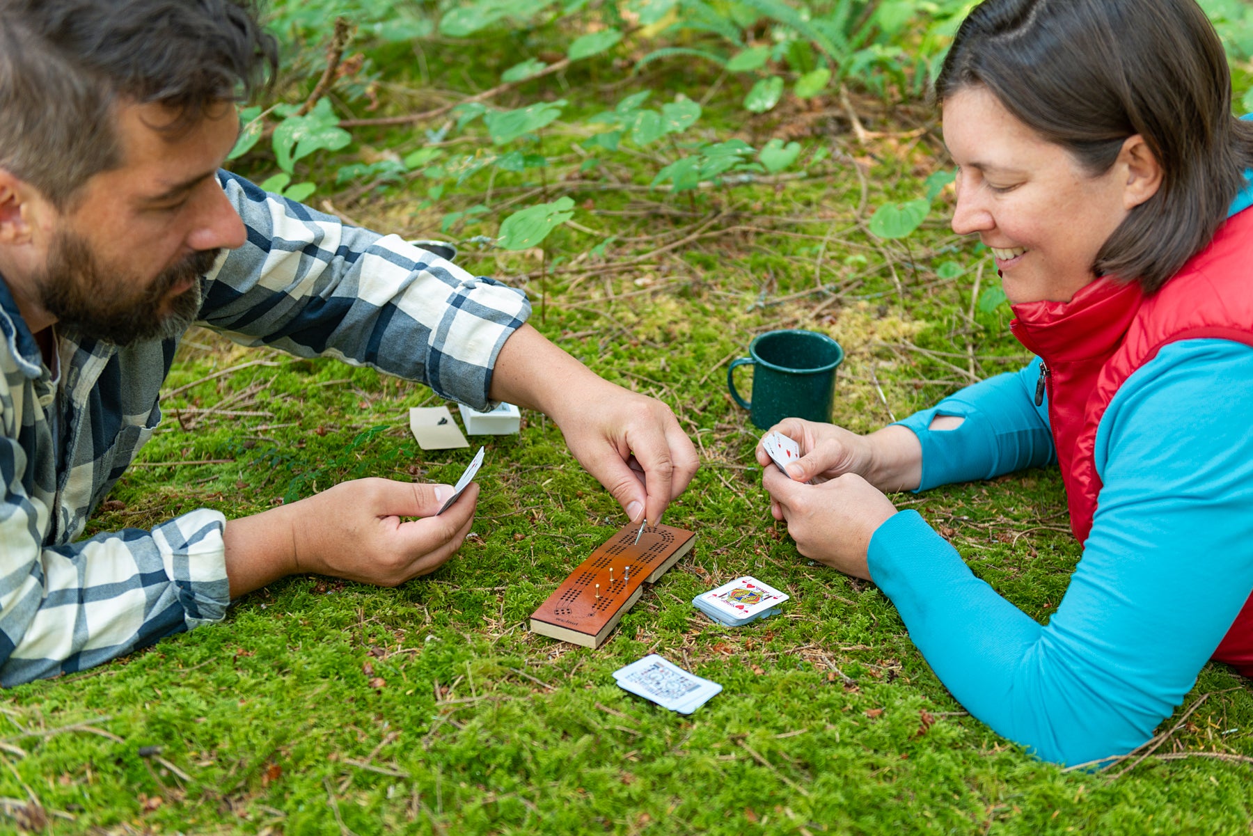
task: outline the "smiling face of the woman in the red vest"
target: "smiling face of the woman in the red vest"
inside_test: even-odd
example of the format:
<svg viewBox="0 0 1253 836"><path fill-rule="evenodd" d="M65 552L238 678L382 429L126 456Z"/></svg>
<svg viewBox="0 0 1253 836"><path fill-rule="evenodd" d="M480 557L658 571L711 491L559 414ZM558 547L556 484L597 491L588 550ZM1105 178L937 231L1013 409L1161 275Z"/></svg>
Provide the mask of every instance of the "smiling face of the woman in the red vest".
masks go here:
<svg viewBox="0 0 1253 836"><path fill-rule="evenodd" d="M952 229L977 233L996 257L1011 303L1069 302L1095 278L1109 236L1143 199L1133 137L1113 167L1090 175L1070 152L1014 117L985 86L944 102L944 139L957 163ZM1140 184L1143 187L1143 183Z"/></svg>

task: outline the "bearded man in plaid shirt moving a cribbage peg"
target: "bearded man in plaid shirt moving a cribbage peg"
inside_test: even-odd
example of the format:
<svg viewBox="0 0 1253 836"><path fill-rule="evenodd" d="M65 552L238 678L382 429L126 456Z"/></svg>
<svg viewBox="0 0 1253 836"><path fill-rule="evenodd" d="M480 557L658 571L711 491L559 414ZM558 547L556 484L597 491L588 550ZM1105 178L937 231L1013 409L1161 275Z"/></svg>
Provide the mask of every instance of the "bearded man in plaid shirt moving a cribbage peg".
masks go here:
<svg viewBox="0 0 1253 836"><path fill-rule="evenodd" d="M469 533L477 488L432 516L449 486L363 479L74 543L160 420L193 321L541 410L632 520L695 471L669 409L524 325L520 292L219 170L237 94L274 65L251 0L0 0L3 684L218 620L287 574L400 584Z"/></svg>

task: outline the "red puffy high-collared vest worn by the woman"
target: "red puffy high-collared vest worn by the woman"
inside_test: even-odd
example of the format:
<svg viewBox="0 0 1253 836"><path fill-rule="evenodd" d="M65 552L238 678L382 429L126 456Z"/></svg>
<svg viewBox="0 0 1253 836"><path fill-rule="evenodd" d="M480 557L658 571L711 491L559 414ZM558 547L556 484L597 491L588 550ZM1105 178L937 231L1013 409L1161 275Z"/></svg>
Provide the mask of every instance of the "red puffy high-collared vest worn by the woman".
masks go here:
<svg viewBox="0 0 1253 836"><path fill-rule="evenodd" d="M1155 295L1099 278L1069 302L1015 305L1010 328L1044 361L1049 421L1066 485L1070 530L1091 530L1101 481L1096 427L1114 394L1162 346L1220 338L1253 346L1253 209L1224 223ZM1253 676L1253 597L1214 658Z"/></svg>

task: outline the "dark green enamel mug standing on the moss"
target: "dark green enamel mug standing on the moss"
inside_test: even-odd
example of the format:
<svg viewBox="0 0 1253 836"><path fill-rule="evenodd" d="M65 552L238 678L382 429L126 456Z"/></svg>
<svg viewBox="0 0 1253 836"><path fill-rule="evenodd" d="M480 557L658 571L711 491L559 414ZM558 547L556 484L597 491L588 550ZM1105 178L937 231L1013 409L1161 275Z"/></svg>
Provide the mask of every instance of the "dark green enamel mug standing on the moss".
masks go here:
<svg viewBox="0 0 1253 836"><path fill-rule="evenodd" d="M758 429L786 417L831 420L836 368L845 360L838 342L817 331L767 331L749 343L748 355L727 368L727 389ZM753 366L752 401L736 390L741 366Z"/></svg>

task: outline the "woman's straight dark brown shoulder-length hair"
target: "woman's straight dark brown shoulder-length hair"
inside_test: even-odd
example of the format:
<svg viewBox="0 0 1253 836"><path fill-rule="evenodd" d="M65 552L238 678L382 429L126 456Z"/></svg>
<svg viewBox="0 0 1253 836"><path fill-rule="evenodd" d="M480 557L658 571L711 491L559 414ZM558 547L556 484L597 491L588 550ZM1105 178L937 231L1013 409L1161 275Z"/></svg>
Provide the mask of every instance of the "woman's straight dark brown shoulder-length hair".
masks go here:
<svg viewBox="0 0 1253 836"><path fill-rule="evenodd" d="M1093 177L1144 138L1162 188L1093 269L1148 293L1209 243L1253 167L1253 123L1232 113L1227 56L1194 0L986 0L957 30L936 97L977 85Z"/></svg>

